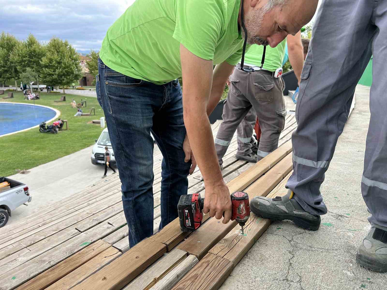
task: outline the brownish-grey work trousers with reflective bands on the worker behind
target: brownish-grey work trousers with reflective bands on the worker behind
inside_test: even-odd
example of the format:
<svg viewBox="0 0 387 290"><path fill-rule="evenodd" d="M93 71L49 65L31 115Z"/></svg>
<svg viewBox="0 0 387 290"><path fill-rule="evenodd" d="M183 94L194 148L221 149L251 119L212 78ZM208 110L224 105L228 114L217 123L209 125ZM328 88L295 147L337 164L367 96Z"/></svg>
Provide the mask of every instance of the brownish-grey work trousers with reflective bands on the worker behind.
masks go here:
<svg viewBox="0 0 387 290"><path fill-rule="evenodd" d="M262 129L258 147L258 160L265 157L278 147L278 139L285 125L286 105L283 97L284 82L282 78L273 78L267 72L243 72L235 68L230 76L230 87L227 101L223 107L223 123L215 138L215 148L219 164L223 164L223 156L233 135L253 107ZM255 121L254 121L255 123ZM238 136L243 143L250 143L250 136ZM251 148L251 146L250 146ZM251 153L251 149L245 153ZM246 155L246 154L245 154Z"/></svg>

